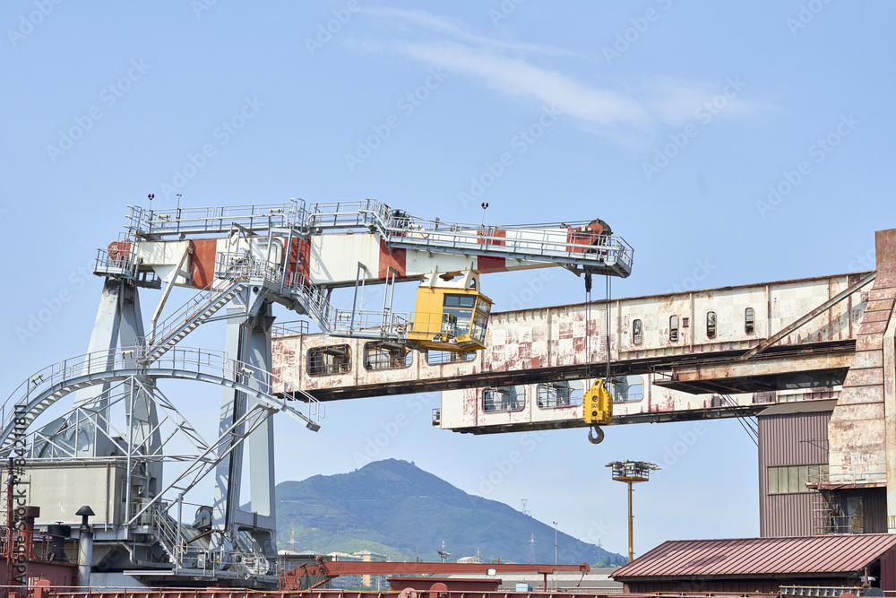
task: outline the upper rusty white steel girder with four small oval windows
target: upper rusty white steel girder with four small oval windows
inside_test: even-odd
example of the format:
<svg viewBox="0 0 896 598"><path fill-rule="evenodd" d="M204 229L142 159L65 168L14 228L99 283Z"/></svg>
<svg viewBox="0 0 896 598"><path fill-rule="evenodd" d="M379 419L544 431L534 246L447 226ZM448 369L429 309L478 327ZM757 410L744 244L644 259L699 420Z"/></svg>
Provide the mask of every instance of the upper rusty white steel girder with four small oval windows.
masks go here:
<svg viewBox="0 0 896 598"><path fill-rule="evenodd" d="M615 374L647 373L680 360L705 360L710 355L742 355L762 342L769 331L793 323L825 300L849 289L861 274L841 274L798 281L700 290L671 295L616 299L610 305L610 359ZM865 311L866 289L857 290L812 322L780 339L783 347L855 339ZM752 332L745 328L745 307L754 309ZM487 349L469 361L428 363L413 351L400 368L366 368L367 342L323 334L292 335L273 341L274 373L320 400L416 393L444 388L583 378L593 364L607 360L605 302L554 308L532 308L493 314ZM707 314L715 314L709 337ZM670 316L679 322L671 339ZM641 334L633 331L641 322ZM687 321L685 325L685 320ZM308 351L346 344L349 362L339 371L313 376Z"/></svg>

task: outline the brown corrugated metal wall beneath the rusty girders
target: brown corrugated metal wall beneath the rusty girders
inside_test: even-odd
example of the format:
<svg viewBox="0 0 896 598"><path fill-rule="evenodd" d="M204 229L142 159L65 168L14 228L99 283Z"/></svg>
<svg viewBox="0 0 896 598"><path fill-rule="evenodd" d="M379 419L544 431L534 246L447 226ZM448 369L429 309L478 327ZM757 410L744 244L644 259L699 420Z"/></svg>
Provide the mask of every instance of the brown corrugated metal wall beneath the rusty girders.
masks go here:
<svg viewBox="0 0 896 598"><path fill-rule="evenodd" d="M759 522L764 537L812 534L812 493L768 494L769 467L826 464L831 412L759 418Z"/></svg>

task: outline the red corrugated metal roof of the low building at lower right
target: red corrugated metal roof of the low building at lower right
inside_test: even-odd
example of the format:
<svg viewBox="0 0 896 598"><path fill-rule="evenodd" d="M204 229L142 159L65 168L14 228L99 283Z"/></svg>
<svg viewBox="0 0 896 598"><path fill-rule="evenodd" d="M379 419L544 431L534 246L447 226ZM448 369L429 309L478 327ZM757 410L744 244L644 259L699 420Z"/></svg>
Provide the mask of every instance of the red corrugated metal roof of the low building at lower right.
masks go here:
<svg viewBox="0 0 896 598"><path fill-rule="evenodd" d="M857 571L896 546L896 534L860 533L803 538L672 540L612 576L750 576Z"/></svg>

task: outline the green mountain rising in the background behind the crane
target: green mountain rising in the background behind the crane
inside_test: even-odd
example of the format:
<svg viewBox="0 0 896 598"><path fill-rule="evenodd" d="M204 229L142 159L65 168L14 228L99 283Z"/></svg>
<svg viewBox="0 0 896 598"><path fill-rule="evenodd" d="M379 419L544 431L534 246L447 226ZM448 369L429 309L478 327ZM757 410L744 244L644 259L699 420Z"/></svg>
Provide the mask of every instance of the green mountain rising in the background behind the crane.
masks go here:
<svg viewBox="0 0 896 598"><path fill-rule="evenodd" d="M407 461L388 459L336 475L277 485L280 548L354 552L372 550L394 560L451 560L475 555L483 560L554 562L552 526L495 500L467 494ZM582 530L587 533L587 530ZM561 563L625 562L595 544L558 534Z"/></svg>

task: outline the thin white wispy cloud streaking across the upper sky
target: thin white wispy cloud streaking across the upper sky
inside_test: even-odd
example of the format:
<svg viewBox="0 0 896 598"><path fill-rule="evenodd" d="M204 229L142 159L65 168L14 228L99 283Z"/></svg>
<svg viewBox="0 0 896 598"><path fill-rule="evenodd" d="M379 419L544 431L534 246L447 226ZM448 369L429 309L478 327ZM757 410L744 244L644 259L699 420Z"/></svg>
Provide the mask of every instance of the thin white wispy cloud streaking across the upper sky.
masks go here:
<svg viewBox="0 0 896 598"><path fill-rule="evenodd" d="M547 104L579 120L588 130L626 147L651 143L661 127L694 122L697 110L725 85L671 77L615 80L602 85L582 82L533 63L537 56L578 56L573 52L489 39L470 32L463 22L426 11L384 7L362 10L392 25L400 39L365 39L356 41L356 48L439 65L487 89L518 100ZM724 116L750 116L765 108L769 107L735 95L726 99Z"/></svg>

